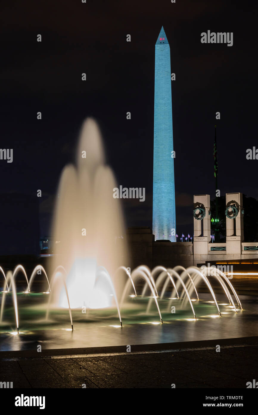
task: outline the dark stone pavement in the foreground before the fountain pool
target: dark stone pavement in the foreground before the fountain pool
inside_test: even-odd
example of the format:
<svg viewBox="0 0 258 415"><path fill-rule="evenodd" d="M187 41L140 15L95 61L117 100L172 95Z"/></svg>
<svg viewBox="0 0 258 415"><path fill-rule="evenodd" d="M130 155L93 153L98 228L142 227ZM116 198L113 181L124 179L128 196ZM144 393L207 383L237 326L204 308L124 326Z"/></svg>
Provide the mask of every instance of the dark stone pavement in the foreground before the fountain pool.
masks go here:
<svg viewBox="0 0 258 415"><path fill-rule="evenodd" d="M218 342L215 342L218 344ZM62 352L60 350L60 352ZM258 344L166 352L0 359L13 388L246 388L258 379Z"/></svg>

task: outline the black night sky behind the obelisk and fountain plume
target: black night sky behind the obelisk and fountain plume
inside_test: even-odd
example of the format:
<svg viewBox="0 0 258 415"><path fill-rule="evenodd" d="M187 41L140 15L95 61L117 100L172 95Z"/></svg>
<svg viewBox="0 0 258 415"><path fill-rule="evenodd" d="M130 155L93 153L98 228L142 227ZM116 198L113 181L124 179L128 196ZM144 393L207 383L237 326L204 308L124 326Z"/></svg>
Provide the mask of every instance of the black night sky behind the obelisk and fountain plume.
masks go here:
<svg viewBox="0 0 258 415"><path fill-rule="evenodd" d="M224 0L2 4L0 148L13 149L13 162L0 160L0 193L36 197L41 189L40 233L48 235L60 173L74 161L82 121L92 116L118 186L146 189L144 203L123 200L127 226L152 226L154 51L163 25L176 73L177 233L193 233L194 194L215 197L215 124L221 194L257 198L258 160L246 160L246 149L258 147L255 7ZM233 46L202 44L207 30L233 32Z"/></svg>

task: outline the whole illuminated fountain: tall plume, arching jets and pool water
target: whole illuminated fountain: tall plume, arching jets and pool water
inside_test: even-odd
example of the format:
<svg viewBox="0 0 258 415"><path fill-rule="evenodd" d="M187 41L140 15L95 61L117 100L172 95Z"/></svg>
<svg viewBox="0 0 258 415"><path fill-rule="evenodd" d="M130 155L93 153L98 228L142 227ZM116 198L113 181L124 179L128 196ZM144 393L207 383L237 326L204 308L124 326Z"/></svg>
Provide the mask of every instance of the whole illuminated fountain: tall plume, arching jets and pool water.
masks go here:
<svg viewBox="0 0 258 415"><path fill-rule="evenodd" d="M6 275L0 267L0 350L256 335L257 299L244 298L242 306L221 271L142 265L130 272L116 187L99 127L87 119L76 164L61 174L47 272L35 264L28 278L21 264ZM214 283L222 294L215 295Z"/></svg>

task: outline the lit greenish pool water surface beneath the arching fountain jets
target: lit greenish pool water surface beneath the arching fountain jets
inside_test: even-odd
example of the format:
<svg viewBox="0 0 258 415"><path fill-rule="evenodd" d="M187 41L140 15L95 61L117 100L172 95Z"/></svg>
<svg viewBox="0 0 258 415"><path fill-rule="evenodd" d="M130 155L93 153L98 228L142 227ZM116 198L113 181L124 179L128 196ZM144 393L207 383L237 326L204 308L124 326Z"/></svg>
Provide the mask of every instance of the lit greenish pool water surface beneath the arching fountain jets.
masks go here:
<svg viewBox="0 0 258 415"><path fill-rule="evenodd" d="M28 297L30 305L28 306ZM190 309L181 310L178 300L172 305L176 312L167 312L167 300L159 300L163 325L153 306L146 313L149 298L128 298L121 310L123 328L120 327L116 309L72 310L74 331L71 331L67 309L52 310L45 320L45 310L37 304L43 294L19 294L20 333L15 332L13 308L7 300L5 321L0 326L0 350L36 350L72 347L106 347L133 344L155 344L187 342L195 340L249 337L258 335L258 298L241 296L243 309L237 314L225 305L223 295L217 300L222 317L217 317L214 304L209 303L210 295L202 294L202 300L195 302L197 321ZM9 304L10 303L10 304ZM10 306L8 306L10 305ZM217 318L215 318L215 316ZM15 335L14 335L15 333Z"/></svg>

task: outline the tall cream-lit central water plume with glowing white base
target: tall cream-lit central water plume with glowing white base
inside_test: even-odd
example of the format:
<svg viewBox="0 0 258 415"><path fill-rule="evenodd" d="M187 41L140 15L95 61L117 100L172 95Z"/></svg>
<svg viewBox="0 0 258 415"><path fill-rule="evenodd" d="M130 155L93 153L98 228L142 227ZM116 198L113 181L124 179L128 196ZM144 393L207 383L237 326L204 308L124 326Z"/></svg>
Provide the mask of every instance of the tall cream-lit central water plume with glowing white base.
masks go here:
<svg viewBox="0 0 258 415"><path fill-rule="evenodd" d="M53 220L51 271L65 268L71 308L111 305L111 286L106 278L96 280L97 269L103 266L112 277L128 262L120 201L113 198L116 186L105 164L99 127L88 118L80 132L76 166L65 166L61 174ZM67 306L59 288L53 302ZM119 293L117 281L115 288Z"/></svg>

